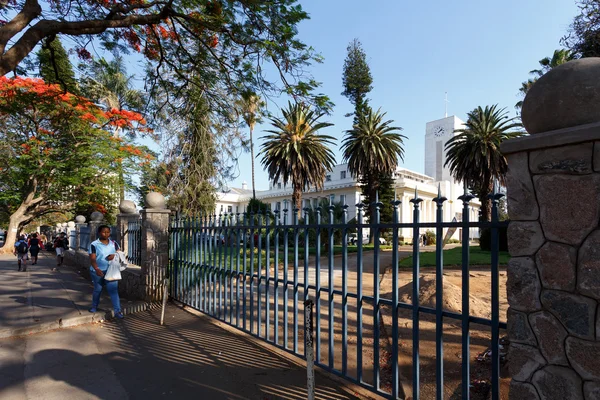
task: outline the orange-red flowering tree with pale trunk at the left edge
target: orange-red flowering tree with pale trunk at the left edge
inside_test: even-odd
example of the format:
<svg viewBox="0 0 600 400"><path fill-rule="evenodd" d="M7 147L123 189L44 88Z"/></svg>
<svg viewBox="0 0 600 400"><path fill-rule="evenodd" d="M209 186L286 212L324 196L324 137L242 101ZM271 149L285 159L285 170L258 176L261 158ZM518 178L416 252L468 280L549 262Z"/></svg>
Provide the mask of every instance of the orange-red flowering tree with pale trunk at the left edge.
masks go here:
<svg viewBox="0 0 600 400"><path fill-rule="evenodd" d="M36 218L82 204L102 210L116 199L117 163L131 169L150 156L111 128L140 131L144 124L140 114L103 111L41 79L0 77L0 212L9 216L4 250Z"/></svg>

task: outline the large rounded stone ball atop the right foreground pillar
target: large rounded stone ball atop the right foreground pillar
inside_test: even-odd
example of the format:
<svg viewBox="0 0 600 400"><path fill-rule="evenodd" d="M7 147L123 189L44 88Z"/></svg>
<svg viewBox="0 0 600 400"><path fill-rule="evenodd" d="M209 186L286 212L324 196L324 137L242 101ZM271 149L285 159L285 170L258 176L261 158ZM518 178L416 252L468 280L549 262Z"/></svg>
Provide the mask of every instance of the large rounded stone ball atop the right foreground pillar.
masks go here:
<svg viewBox="0 0 600 400"><path fill-rule="evenodd" d="M531 135L600 122L600 58L569 61L529 89L521 119Z"/></svg>

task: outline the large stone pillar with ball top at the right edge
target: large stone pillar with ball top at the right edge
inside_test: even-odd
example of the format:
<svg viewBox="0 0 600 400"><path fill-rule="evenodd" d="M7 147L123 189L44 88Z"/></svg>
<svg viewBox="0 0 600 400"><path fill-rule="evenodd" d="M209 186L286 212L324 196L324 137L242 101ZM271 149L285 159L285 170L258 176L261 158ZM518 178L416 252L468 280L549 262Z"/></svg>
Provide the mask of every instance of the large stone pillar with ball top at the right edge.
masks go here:
<svg viewBox="0 0 600 400"><path fill-rule="evenodd" d="M510 399L600 399L600 59L544 75L503 144Z"/></svg>

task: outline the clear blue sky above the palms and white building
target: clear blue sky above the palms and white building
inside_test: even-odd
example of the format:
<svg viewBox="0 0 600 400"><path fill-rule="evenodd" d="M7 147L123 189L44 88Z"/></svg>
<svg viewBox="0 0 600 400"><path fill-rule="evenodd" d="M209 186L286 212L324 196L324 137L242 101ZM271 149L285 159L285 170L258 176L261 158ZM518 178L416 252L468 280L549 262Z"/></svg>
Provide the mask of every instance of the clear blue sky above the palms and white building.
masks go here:
<svg viewBox="0 0 600 400"><path fill-rule="evenodd" d="M466 120L477 106L498 104L515 115L518 90L538 61L561 48L560 39L578 13L574 0L300 0L311 19L299 37L324 58L310 73L322 82L319 92L335 103L324 118L334 126L322 132L338 139L350 129L352 104L340 93L346 48L358 38L367 55L373 90L370 105L408 137L400 166L424 172L425 124L448 115ZM284 101L281 101L282 105ZM271 112L278 112L275 102ZM268 123L255 128L255 149ZM268 189L268 177L256 160L256 189ZM250 154L239 158L239 176L230 183L251 188Z"/></svg>

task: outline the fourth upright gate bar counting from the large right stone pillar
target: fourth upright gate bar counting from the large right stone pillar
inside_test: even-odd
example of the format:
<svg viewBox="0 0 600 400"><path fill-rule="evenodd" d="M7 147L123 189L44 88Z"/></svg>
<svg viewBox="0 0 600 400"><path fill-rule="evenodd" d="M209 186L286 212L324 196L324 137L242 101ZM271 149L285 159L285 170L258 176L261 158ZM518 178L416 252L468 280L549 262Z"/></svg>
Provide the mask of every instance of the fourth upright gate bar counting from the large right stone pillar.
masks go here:
<svg viewBox="0 0 600 400"><path fill-rule="evenodd" d="M412 306L413 306L413 400L419 400L419 386L421 385L421 377L420 366L419 366L419 244L421 242L421 235L419 232L419 220L420 220L420 210L419 204L423 201L423 199L419 198L419 194L417 193L417 189L415 188L415 197L410 200L414 205L413 210L413 296L412 296Z"/></svg>

